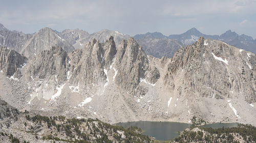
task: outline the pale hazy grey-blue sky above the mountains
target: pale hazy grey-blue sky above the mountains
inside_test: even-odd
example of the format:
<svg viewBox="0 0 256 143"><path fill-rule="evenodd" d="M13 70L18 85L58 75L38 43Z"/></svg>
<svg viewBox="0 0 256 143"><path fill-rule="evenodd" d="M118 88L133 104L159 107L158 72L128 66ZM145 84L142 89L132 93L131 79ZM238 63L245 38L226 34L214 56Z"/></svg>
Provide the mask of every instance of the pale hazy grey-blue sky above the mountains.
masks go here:
<svg viewBox="0 0 256 143"><path fill-rule="evenodd" d="M196 27L204 34L231 30L256 38L256 0L0 0L0 4L0 23L24 33L47 26L57 31L110 29L131 36L157 31L168 36Z"/></svg>

